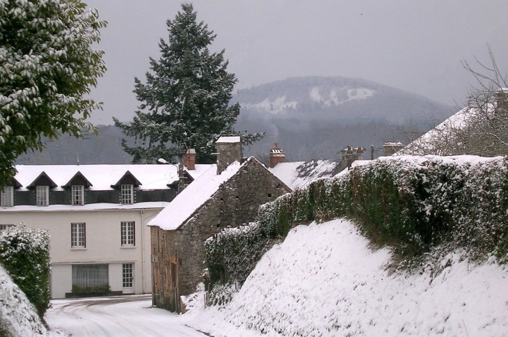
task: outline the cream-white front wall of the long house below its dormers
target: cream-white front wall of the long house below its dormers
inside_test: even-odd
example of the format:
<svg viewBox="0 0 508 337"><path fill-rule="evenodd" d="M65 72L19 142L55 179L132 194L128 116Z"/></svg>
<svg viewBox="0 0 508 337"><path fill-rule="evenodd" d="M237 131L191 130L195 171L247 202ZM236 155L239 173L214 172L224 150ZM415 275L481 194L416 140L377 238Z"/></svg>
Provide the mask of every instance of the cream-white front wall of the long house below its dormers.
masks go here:
<svg viewBox="0 0 508 337"><path fill-rule="evenodd" d="M0 224L49 230L51 236L51 298L72 290L72 266L107 265L111 291L143 294L152 291L150 228L145 226L168 203L86 206L15 206L0 210ZM88 206L88 207L87 207ZM84 207L86 209L84 209ZM122 246L121 223L134 221L134 244ZM71 246L71 224L85 224L85 246ZM124 288L124 265L132 264L132 288ZM128 284L128 283L127 283Z"/></svg>

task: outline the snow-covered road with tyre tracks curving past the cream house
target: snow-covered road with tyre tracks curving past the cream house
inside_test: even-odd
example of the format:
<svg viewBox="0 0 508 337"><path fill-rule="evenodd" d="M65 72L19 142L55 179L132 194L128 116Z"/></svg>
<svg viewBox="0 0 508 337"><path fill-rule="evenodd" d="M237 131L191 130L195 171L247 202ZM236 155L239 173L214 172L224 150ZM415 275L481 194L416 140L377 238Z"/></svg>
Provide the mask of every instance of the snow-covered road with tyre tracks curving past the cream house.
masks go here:
<svg viewBox="0 0 508 337"><path fill-rule="evenodd" d="M207 336L182 325L177 315L151 308L151 295L59 299L51 304L45 318L54 336Z"/></svg>

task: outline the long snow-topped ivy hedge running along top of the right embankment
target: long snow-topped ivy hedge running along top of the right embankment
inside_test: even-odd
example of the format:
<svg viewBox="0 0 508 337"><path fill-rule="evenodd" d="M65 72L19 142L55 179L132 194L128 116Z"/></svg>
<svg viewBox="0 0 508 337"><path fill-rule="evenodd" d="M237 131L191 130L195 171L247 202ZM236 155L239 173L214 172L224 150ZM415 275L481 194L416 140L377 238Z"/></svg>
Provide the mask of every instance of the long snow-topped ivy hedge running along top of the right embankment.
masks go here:
<svg viewBox="0 0 508 337"><path fill-rule="evenodd" d="M292 226L345 217L402 258L438 244L508 261L508 163L502 157L388 157L315 180L262 205L256 224L207 242L213 281L243 283L261 249ZM234 271L234 272L233 272Z"/></svg>

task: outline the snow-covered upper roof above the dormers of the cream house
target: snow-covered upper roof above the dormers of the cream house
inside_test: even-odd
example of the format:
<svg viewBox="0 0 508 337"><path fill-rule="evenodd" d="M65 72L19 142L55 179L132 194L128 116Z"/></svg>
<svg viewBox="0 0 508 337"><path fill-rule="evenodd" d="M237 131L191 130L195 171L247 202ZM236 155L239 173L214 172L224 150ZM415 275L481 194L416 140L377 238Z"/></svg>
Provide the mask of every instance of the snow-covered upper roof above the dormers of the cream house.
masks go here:
<svg viewBox="0 0 508 337"><path fill-rule="evenodd" d="M198 178L210 165L196 165L196 170L189 173ZM92 185L90 190L112 189L127 171L129 171L141 185L139 189L167 189L168 184L178 180L176 165L152 164L120 164L120 165L16 165L15 179L23 186L19 190L26 190L38 176L45 172L47 177L55 182L56 191L63 190L69 180L80 172Z"/></svg>

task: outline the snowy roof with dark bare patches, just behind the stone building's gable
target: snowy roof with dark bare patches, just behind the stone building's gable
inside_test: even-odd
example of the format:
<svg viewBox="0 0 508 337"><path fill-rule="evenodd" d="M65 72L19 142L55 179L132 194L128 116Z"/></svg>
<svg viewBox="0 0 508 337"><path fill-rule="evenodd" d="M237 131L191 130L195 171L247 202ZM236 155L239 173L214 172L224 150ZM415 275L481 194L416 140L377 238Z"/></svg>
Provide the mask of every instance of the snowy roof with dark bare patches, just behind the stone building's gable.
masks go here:
<svg viewBox="0 0 508 337"><path fill-rule="evenodd" d="M269 171L282 180L291 189L307 185L317 178L332 177L339 163L328 159L312 160L311 162L278 163Z"/></svg>

